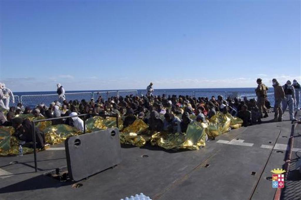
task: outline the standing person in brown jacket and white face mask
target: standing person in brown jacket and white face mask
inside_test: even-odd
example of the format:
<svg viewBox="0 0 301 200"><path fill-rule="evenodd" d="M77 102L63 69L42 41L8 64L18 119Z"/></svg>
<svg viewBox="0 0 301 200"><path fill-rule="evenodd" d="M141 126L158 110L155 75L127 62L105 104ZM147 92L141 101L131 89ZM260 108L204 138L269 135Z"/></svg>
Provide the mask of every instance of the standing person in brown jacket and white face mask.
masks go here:
<svg viewBox="0 0 301 200"><path fill-rule="evenodd" d="M275 122L281 122L282 121L282 108L281 108L281 102L284 99L284 90L281 85L279 85L278 81L276 78L272 80L273 82L273 87L274 87L274 99L275 99L275 104L274 104L274 121ZM279 116L278 116L279 114Z"/></svg>

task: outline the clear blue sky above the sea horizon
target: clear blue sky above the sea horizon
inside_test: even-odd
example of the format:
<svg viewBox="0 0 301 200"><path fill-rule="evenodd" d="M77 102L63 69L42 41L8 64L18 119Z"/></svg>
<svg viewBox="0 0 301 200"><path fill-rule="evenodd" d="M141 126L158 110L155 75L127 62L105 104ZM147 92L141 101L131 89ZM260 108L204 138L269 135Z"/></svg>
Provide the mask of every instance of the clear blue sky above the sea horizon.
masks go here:
<svg viewBox="0 0 301 200"><path fill-rule="evenodd" d="M300 82L300 1L0 2L13 91Z"/></svg>

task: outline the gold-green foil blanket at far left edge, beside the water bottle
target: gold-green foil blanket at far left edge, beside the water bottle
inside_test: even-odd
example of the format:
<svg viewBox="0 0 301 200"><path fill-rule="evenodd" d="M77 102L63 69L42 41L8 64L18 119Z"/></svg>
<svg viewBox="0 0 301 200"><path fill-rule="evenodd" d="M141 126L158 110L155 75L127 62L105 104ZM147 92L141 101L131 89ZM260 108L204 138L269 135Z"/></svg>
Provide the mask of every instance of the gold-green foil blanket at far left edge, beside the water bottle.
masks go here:
<svg viewBox="0 0 301 200"><path fill-rule="evenodd" d="M18 155L19 143L16 137L13 136L15 130L13 127L0 128L0 156ZM23 147L23 154L32 153L33 149Z"/></svg>

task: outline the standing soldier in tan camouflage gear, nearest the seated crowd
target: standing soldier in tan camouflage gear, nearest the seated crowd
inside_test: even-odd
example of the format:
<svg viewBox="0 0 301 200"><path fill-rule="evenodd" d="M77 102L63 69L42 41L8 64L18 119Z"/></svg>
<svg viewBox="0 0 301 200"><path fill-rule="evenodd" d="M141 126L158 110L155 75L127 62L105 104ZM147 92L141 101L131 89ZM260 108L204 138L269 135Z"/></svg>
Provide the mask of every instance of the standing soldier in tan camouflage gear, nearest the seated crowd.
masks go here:
<svg viewBox="0 0 301 200"><path fill-rule="evenodd" d="M267 97L266 91L268 90L268 87L266 87L262 83L261 78L257 78L256 82L257 82L258 86L255 89L255 92L256 92L256 96L257 96L257 106L258 106L259 114L260 114L261 118L262 118L262 112L264 113L263 117L268 117L268 112L266 111L266 108L265 108L265 98Z"/></svg>

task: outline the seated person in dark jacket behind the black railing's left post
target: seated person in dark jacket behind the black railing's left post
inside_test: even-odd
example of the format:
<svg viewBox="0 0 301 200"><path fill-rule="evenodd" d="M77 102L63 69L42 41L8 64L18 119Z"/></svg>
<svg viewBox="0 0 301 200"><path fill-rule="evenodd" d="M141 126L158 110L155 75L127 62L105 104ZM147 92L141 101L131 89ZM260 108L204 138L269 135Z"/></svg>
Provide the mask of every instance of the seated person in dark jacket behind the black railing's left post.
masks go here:
<svg viewBox="0 0 301 200"><path fill-rule="evenodd" d="M14 118L13 127L15 128L15 136L26 143L33 142L33 124L29 119L24 121L21 118ZM45 146L45 134L35 128L37 148L44 148Z"/></svg>

